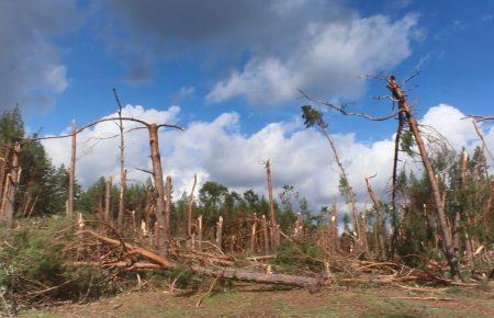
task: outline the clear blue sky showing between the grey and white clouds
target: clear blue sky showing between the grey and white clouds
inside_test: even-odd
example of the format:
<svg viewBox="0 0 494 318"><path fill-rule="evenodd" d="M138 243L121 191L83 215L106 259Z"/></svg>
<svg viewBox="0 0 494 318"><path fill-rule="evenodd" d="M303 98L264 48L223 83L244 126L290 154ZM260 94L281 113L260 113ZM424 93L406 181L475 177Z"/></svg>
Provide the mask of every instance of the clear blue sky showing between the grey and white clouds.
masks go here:
<svg viewBox="0 0 494 318"><path fill-rule="evenodd" d="M43 2L50 5L49 2L53 1L38 1L35 5L43 5L41 4ZM440 102L456 105L468 113L489 113L489 110L494 110L490 102L494 100L492 1L473 1L468 4L464 1L343 1L341 3L361 18L383 14L391 21L398 21L407 14L417 16L414 29L419 34L409 41L409 56L402 58L391 69L375 69L375 71L392 71L406 77L418 67L422 75L415 83L419 84L419 88L412 92L412 98L418 102L419 112ZM180 38L171 38L168 44L170 50L175 49L172 46L176 43L180 46L180 55L183 57L171 56L173 53L168 57L166 52L148 53L154 48L139 47L135 43L132 44L135 46L133 48L135 53L120 53L121 44L112 42L117 42L132 32L128 31L132 27L128 26L130 22L119 16L117 10L112 4L78 1L75 2L75 7L80 21L70 25L68 32L60 31L47 39L53 41L58 55L57 61L67 69L68 86L64 91L50 94L54 101L48 109L36 104L25 107L27 125L33 129L43 126L44 132L55 133L66 127L71 118L86 123L112 112L115 107L111 93L113 87L119 89L125 103L156 109L179 104L182 107L180 121L184 125L191 120L209 121L225 111L234 110L242 115L242 129L246 134L255 132L266 123L297 116L300 105L304 103L293 98L274 106L266 106L262 103L246 101L242 95L221 102L206 101L205 96L215 82L223 80L232 69L242 70L248 61L248 56L252 54L248 46L236 49L232 55L225 56L221 53L215 56L216 47L210 49L207 38L201 46L202 53L194 52L198 46L190 42L180 43ZM180 27L180 23L178 24ZM111 38L112 36L115 38ZM132 43L134 39L128 41ZM281 46L281 49L290 48ZM392 50L393 47L389 49ZM143 82L130 81L127 76L132 65L146 59L145 55L153 55L148 78ZM351 100L375 110L389 110L389 104L375 103L371 99L373 95L385 93L381 83L367 86L367 90ZM193 88L193 93L179 99L178 94L183 88L189 88L189 91ZM324 91L318 95L327 99L345 98ZM22 96L19 98L21 100ZM335 117L332 121L333 129L340 133L356 132L359 138L381 138L389 135L394 126L393 123L375 125L360 121L358 125L348 125L351 122L353 121Z"/></svg>

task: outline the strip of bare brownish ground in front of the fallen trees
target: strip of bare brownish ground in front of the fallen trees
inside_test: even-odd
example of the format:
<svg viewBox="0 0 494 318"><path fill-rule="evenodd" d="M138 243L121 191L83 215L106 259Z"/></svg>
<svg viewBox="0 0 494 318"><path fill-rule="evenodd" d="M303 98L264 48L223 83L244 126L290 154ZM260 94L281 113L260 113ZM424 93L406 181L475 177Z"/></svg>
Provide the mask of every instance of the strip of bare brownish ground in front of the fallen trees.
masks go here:
<svg viewBox="0 0 494 318"><path fill-rule="evenodd" d="M32 309L21 317L494 317L493 283L483 288L427 293L402 287L335 287L310 294L244 286L216 291L197 308L205 292L192 296L167 289L124 293L83 305Z"/></svg>

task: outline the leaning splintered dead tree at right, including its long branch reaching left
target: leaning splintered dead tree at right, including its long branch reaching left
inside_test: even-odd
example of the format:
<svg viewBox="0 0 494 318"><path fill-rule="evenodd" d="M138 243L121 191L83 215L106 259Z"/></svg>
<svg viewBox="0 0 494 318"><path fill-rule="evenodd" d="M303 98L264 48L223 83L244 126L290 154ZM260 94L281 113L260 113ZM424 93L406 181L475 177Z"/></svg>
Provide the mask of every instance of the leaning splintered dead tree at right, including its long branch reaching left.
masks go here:
<svg viewBox="0 0 494 318"><path fill-rule="evenodd" d="M348 105L335 105L335 104L326 102L326 101L313 99L304 92L302 92L302 94L306 99L308 99L313 102L316 102L318 104L323 104L323 105L329 107L330 110L337 111L344 115L360 116L360 117L364 117L364 118L371 120L371 121L385 121L385 120L390 120L390 118L394 118L394 117L398 116L400 121L403 120L403 122L405 124L407 124L409 133L413 135L415 143L417 145L418 152L420 155L420 159L424 164L424 169L426 171L427 179L428 179L430 188L431 188L434 202L436 204L437 216L439 219L439 228L440 228L441 236L442 236L444 253L448 261L451 276L453 277L453 280L459 280L460 271L459 271L459 262L458 262L458 258L457 258L458 251L454 249L452 234L451 234L450 227L448 226L448 219L446 216L445 204L444 204L441 193L439 190L439 183L438 183L438 180L436 179L436 173L435 173L433 163L428 157L422 133L418 128L417 120L415 118L415 115L412 112L412 107L408 104L407 95L402 90L402 87L397 83L396 78L394 76L389 76L388 78L379 78L379 79L382 79L386 82L386 88L391 92L391 95L389 95L386 98L389 100L397 103L397 105L398 105L398 110L396 112L394 112L390 115L385 115L385 116L379 117L379 116L372 116L372 115L369 115L366 113L348 112L348 110L347 110ZM493 117L493 120L494 120L494 117ZM397 139L395 140L395 143L398 143L398 141L400 140L397 140Z"/></svg>

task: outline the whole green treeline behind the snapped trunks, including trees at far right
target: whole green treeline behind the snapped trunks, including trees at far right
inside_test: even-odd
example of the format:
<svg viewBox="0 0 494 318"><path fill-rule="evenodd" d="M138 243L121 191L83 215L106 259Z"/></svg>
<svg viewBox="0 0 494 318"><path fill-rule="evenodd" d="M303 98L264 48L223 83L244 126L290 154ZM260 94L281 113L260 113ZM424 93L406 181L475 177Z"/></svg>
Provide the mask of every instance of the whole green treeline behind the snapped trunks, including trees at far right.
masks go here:
<svg viewBox="0 0 494 318"><path fill-rule="evenodd" d="M394 83L394 78L390 82ZM489 173L486 149L478 147L469 156L465 151L458 154L447 143L437 143L439 146L436 147L430 143L426 154L425 148L420 149L424 145L417 144L420 137L418 127L415 126L412 132L417 123L409 117L406 101L401 95L395 98L401 98L403 103L400 109L401 138L396 141L396 155L400 151L416 157L419 161L430 163L430 167L426 167L422 174L405 169L393 173L392 202L377 197L367 179L374 204L366 211L358 211L356 195L327 132L323 114L308 105L302 107L305 125L316 127L325 135L338 164L341 195L350 209L349 215L344 214L339 219L344 234L338 240L351 241L341 248L348 251L356 248L370 258L401 258L413 264L420 263L424 259L442 257L453 266L458 262L457 258L472 263L475 252L480 248L491 247L494 241L494 179ZM336 110L348 114L346 109ZM407 125L411 130L402 133L400 129ZM0 145L3 145L3 154L15 143L20 143L22 147L21 174L14 203L15 217L65 213L68 170L64 166L54 167L43 145L35 138L25 137L20 110L15 107L3 113L0 117ZM422 139L419 141L423 143ZM435 173L434 179L431 172ZM105 214L109 213L110 219L116 220L121 189L117 184L109 188L109 184L103 177L87 189L76 184L75 211L99 214L106 219L109 217ZM188 236L191 204L194 218L202 216L204 236L209 238L215 237L215 227L221 217L224 237L247 238L252 223L259 222L262 216L269 219L271 214L269 198L262 194L254 190L238 193L217 182L205 182L193 201L188 193L172 193L169 213L170 235L173 237ZM144 183L128 184L123 196L126 227L141 228L144 222L148 229L153 229L156 224L153 212L156 211L157 193L151 179ZM274 224L279 225L283 234L293 232L295 227L303 228L307 238L317 237L319 229L325 227L333 226L333 232L338 231L330 208L311 213L307 201L294 186L282 188L273 202L273 209L277 218ZM451 241L445 242L448 235ZM446 243L449 250L441 254Z"/></svg>

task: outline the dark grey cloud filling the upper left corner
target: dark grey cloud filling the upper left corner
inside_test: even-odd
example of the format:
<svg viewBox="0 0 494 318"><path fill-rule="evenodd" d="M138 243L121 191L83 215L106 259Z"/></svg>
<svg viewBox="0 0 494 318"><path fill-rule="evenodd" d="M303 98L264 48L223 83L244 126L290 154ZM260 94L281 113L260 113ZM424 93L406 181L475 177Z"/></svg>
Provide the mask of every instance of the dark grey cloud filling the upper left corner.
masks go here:
<svg viewBox="0 0 494 318"><path fill-rule="evenodd" d="M0 107L46 107L67 88L54 41L77 21L75 0L0 1Z"/></svg>

